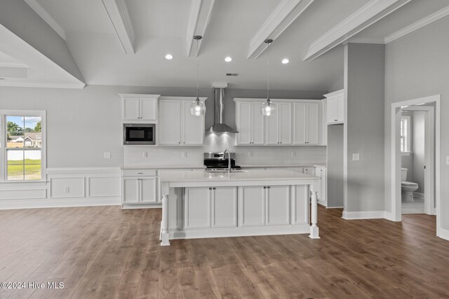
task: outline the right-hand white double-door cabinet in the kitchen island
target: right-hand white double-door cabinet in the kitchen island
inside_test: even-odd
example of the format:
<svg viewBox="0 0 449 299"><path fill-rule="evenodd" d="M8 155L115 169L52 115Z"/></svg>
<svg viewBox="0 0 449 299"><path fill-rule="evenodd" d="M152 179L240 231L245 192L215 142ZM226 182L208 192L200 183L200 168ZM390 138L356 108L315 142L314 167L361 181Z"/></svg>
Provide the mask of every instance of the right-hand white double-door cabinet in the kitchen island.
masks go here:
<svg viewBox="0 0 449 299"><path fill-rule="evenodd" d="M239 190L239 226L290 224L290 186L248 186Z"/></svg>

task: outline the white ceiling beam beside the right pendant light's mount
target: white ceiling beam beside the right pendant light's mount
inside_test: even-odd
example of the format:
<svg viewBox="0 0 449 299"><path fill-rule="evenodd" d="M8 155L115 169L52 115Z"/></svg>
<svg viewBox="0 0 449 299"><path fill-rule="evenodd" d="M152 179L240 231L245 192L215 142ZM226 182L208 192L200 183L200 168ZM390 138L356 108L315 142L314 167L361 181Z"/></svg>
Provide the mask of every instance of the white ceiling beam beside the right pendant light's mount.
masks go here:
<svg viewBox="0 0 449 299"><path fill-rule="evenodd" d="M256 59L267 48L265 39L275 40L314 0L282 0L250 40L248 59Z"/></svg>

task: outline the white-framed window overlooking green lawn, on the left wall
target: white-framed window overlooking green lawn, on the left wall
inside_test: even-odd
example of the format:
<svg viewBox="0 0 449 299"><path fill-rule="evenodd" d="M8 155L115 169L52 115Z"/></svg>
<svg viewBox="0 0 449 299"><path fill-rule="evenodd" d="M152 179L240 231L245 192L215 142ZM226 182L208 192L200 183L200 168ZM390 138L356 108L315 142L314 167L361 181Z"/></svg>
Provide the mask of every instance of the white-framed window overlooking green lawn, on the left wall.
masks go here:
<svg viewBox="0 0 449 299"><path fill-rule="evenodd" d="M45 174L45 111L0 111L3 181L40 181Z"/></svg>

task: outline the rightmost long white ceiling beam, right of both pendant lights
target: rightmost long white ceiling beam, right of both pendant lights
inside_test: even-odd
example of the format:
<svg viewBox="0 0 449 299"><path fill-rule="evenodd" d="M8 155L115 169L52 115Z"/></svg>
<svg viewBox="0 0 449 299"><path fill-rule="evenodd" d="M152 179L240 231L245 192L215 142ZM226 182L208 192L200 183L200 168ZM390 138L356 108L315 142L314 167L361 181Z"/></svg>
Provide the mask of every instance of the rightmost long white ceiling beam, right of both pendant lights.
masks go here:
<svg viewBox="0 0 449 299"><path fill-rule="evenodd" d="M313 41L304 61L314 60L328 50L346 42L358 32L373 25L411 0L371 0L358 11Z"/></svg>

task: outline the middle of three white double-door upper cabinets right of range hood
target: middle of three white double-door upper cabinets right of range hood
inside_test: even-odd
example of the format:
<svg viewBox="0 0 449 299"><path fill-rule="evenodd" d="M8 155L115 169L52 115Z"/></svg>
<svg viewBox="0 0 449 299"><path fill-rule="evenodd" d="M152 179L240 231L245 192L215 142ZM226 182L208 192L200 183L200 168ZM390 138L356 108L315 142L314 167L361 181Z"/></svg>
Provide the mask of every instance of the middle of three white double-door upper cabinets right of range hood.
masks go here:
<svg viewBox="0 0 449 299"><path fill-rule="evenodd" d="M266 119L266 143L267 145L292 144L292 104L278 103L276 113L265 116Z"/></svg>

